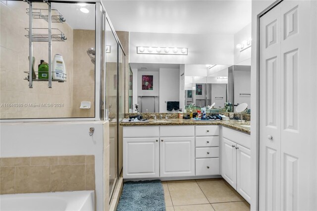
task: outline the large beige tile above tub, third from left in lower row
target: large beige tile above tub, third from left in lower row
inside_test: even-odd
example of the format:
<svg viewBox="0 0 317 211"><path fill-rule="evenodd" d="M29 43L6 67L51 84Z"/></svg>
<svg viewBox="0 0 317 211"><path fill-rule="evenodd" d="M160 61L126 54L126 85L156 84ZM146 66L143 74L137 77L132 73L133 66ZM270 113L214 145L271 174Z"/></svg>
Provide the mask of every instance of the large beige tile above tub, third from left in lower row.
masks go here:
<svg viewBox="0 0 317 211"><path fill-rule="evenodd" d="M52 191L85 190L85 164L52 165Z"/></svg>

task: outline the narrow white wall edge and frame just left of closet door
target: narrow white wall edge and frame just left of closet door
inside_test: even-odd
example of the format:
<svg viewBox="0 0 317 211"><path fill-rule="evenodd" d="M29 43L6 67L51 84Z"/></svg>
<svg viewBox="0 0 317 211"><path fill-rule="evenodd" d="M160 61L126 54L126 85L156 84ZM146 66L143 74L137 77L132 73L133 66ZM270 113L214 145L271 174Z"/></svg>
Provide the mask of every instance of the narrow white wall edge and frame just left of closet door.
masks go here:
<svg viewBox="0 0 317 211"><path fill-rule="evenodd" d="M251 210L259 209L259 71L258 71L258 15L275 0L252 0L252 46L251 46Z"/></svg>

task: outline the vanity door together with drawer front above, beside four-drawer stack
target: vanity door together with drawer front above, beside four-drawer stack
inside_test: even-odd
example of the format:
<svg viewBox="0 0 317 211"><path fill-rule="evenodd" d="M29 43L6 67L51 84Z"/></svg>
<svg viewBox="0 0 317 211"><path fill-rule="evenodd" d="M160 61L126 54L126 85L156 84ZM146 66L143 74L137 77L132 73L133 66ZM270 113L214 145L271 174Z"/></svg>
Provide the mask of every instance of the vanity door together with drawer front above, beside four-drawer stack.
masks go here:
<svg viewBox="0 0 317 211"><path fill-rule="evenodd" d="M159 176L195 176L195 126L160 126L159 137Z"/></svg>

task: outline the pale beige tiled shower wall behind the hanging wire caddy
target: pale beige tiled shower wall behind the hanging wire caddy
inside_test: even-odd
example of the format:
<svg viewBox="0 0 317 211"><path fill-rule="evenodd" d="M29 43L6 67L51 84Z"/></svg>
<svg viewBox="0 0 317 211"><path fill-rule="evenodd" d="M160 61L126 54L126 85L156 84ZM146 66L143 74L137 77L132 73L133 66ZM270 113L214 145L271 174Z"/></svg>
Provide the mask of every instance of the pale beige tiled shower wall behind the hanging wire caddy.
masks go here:
<svg viewBox="0 0 317 211"><path fill-rule="evenodd" d="M44 3L34 3L34 7L47 7ZM53 42L52 54L63 56L66 65L67 82L53 82L49 89L48 82L34 82L29 89L28 81L23 80L28 71L28 38L24 37L29 27L28 4L22 1L0 3L0 103L39 104L62 103L62 107L1 107L0 118L43 118L70 117L72 114L72 75L73 75L73 30L65 22L53 23L52 28L59 28L67 37L65 42ZM34 27L48 27L42 19L33 19ZM35 70L40 59L48 61L48 43L33 43ZM87 55L86 55L87 56Z"/></svg>

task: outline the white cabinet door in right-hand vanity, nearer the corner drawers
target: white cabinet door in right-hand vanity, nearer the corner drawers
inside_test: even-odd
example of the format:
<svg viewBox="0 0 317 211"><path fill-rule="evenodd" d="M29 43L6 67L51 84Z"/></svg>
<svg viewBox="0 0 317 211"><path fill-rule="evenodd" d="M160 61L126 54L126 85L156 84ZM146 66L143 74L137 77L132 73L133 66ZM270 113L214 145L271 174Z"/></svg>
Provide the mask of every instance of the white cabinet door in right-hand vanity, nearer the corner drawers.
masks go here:
<svg viewBox="0 0 317 211"><path fill-rule="evenodd" d="M237 188L237 150L236 143L222 138L221 176L234 188Z"/></svg>

